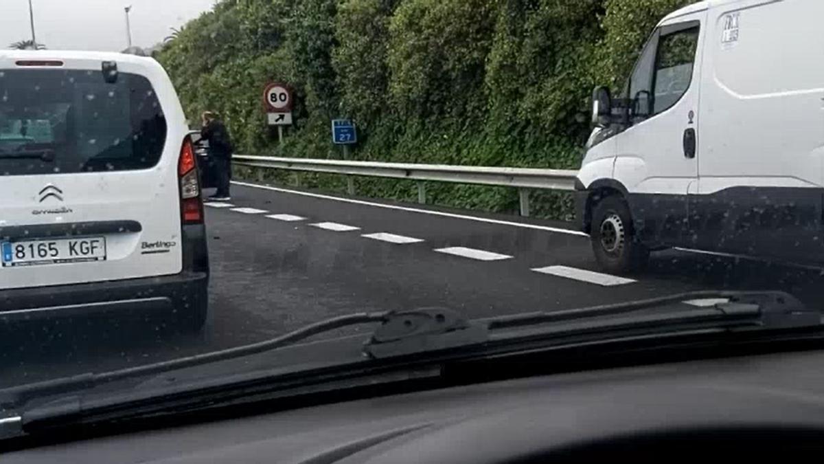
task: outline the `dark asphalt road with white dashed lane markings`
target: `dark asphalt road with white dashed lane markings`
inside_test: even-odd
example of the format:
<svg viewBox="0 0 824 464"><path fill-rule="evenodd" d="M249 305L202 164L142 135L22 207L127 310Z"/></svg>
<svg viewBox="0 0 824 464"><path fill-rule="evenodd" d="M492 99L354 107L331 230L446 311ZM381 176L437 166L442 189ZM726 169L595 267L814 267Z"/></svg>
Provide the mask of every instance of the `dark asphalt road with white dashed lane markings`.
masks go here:
<svg viewBox="0 0 824 464"><path fill-rule="evenodd" d="M480 318L696 290L784 290L809 305L824 295L819 269L686 251L606 276L564 223L252 184L232 196L207 207L206 334L157 320L2 327L0 387L235 347L360 311L446 306Z"/></svg>

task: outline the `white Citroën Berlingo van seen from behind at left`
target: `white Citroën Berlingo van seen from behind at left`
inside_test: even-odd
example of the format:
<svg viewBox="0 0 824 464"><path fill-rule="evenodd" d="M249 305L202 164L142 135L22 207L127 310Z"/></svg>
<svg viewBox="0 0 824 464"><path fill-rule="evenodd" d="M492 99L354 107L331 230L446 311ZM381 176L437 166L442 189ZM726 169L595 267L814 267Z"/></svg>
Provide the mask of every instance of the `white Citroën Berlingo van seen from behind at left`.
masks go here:
<svg viewBox="0 0 824 464"><path fill-rule="evenodd" d="M0 51L0 320L207 315L189 129L154 59Z"/></svg>

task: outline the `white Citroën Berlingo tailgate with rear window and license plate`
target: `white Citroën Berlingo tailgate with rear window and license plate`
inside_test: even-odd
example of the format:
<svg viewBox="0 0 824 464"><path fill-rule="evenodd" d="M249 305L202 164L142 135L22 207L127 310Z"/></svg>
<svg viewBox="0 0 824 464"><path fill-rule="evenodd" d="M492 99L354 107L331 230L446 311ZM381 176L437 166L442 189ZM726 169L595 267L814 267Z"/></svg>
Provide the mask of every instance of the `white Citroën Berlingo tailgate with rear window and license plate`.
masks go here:
<svg viewBox="0 0 824 464"><path fill-rule="evenodd" d="M0 289L181 271L182 111L143 62L0 59Z"/></svg>

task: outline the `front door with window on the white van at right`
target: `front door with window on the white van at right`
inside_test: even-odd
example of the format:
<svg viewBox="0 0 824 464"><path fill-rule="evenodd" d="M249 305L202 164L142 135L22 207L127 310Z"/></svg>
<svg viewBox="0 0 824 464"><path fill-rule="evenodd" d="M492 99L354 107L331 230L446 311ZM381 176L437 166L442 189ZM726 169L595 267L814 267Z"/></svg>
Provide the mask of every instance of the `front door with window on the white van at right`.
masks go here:
<svg viewBox="0 0 824 464"><path fill-rule="evenodd" d="M645 243L681 244L687 192L698 177L699 96L706 11L662 23L625 90L627 129L616 136L615 178L629 193Z"/></svg>

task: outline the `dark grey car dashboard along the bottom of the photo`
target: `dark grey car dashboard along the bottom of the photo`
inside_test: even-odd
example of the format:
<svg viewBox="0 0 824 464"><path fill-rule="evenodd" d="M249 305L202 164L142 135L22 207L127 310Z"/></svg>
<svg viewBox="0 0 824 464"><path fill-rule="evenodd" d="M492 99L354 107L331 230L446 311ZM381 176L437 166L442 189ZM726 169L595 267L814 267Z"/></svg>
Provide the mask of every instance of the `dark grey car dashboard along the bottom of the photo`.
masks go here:
<svg viewBox="0 0 824 464"><path fill-rule="evenodd" d="M8 452L2 462L660 462L818 456L824 353L493 381Z"/></svg>

